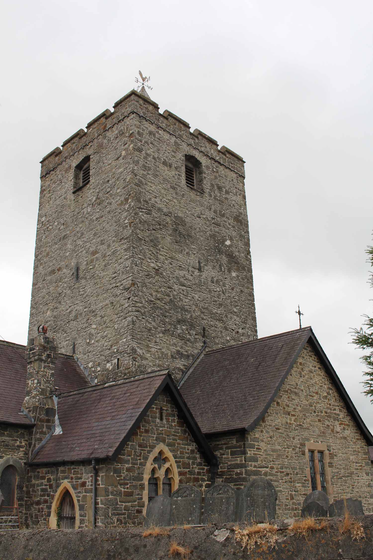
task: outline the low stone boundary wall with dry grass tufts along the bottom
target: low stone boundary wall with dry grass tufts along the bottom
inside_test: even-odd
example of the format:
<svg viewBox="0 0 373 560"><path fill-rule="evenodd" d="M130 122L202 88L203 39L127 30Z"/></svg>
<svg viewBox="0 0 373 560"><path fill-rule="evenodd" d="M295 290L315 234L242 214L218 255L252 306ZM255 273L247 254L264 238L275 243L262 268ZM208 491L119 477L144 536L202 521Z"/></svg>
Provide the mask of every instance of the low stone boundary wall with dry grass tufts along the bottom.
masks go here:
<svg viewBox="0 0 373 560"><path fill-rule="evenodd" d="M267 545L251 554L234 541L234 525L201 526L191 529L171 528L168 535L144 537L144 529L83 529L12 531L0 533L0 560L151 560L170 558L172 542L189 547L189 560L220 560L251 558L251 560L372 560L373 515L357 518L365 531L365 539L341 539L338 522L330 520L330 531L315 531L307 540L290 535L289 520L278 521L280 538L277 549ZM226 536L225 536L226 535ZM225 538L224 538L225 537ZM222 540L223 539L223 540ZM180 559L180 554L171 556Z"/></svg>

